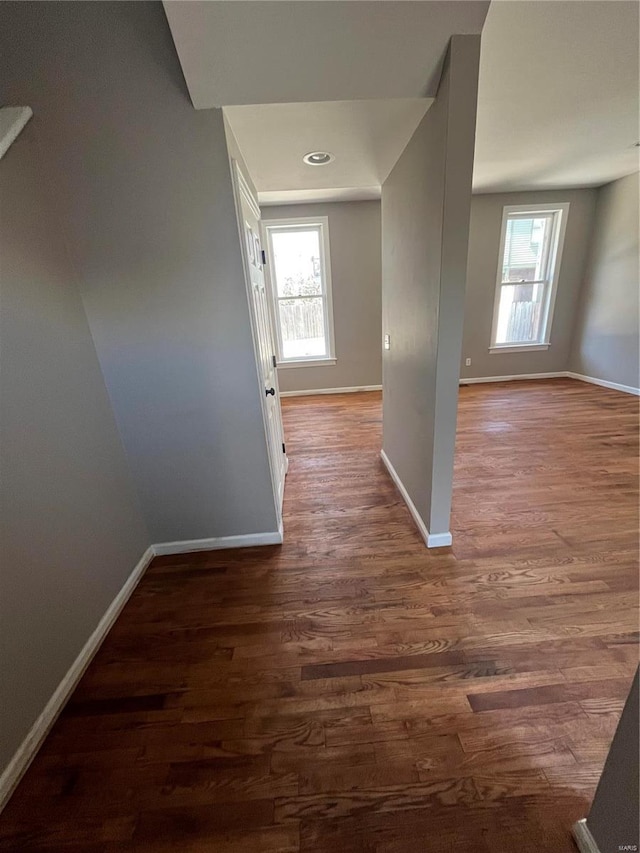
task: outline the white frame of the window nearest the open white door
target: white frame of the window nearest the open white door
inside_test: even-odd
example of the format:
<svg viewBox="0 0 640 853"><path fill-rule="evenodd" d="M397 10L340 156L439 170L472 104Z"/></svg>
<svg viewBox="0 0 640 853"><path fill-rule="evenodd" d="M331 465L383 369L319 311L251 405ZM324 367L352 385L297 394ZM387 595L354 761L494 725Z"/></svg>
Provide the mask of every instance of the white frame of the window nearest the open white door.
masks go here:
<svg viewBox="0 0 640 853"><path fill-rule="evenodd" d="M279 302L287 297L279 297L275 281L274 252L271 235L274 231L305 231L311 228L317 229L320 243L320 269L322 290L318 294L322 298L323 319L325 329L325 343L327 354L322 356L299 356L286 358L282 345L282 329L280 327ZM262 221L263 244L267 250L266 280L269 292L269 306L275 330L276 366L277 367L326 367L337 362L335 350L335 336L333 328L333 299L331 293L331 249L329 245L329 217L288 217L285 219L264 219ZM273 275L272 275L273 270ZM288 297L289 299L299 297Z"/></svg>

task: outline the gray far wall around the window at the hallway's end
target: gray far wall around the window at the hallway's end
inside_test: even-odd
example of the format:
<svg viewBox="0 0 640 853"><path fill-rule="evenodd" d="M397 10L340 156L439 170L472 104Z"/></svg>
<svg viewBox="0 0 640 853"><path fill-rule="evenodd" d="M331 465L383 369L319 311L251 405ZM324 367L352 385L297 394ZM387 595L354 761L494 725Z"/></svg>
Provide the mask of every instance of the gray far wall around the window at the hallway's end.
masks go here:
<svg viewBox="0 0 640 853"><path fill-rule="evenodd" d="M281 391L382 383L380 202L263 207L262 218L327 216L337 363L280 368Z"/></svg>

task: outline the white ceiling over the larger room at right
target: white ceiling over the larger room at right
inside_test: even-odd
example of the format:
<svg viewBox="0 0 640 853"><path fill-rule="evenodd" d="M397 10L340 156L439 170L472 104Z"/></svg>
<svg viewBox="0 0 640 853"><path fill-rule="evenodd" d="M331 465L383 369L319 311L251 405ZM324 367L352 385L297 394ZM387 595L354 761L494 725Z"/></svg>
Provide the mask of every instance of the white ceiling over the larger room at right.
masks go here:
<svg viewBox="0 0 640 853"><path fill-rule="evenodd" d="M598 186L638 169L638 4L494 0L474 191Z"/></svg>

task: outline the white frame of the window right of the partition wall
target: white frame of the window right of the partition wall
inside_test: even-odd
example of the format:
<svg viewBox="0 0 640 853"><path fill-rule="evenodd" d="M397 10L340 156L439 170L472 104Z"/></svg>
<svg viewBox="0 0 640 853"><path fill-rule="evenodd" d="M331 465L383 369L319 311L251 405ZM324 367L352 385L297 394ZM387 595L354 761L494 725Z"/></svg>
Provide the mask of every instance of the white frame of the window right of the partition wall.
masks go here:
<svg viewBox="0 0 640 853"><path fill-rule="evenodd" d="M534 352L536 350L548 350L551 346L551 327L553 324L553 312L558 293L558 279L562 263L562 252L564 249L564 238L569 217L569 202L554 204L511 204L502 209L502 225L500 228L500 248L498 252L498 269L496 273L496 286L493 297L493 320L491 324L491 341L489 352L493 355L501 352ZM496 343L498 333L498 316L500 313L500 297L502 288L507 283L502 281L502 268L504 265L504 249L507 238L507 223L510 219L526 219L541 214L552 214L552 233L549 237L548 267L546 277L541 279L546 284L544 296L543 314L541 319L541 333L538 341L530 343ZM518 282L511 282L517 284ZM533 283L533 282L532 282Z"/></svg>

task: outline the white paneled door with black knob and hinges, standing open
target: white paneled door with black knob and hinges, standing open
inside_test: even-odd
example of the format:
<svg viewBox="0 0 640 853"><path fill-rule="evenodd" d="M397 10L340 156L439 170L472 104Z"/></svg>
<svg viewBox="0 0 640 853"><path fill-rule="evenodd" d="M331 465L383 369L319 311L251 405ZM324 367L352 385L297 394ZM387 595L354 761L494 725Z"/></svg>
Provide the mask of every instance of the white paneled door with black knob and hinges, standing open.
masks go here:
<svg viewBox="0 0 640 853"><path fill-rule="evenodd" d="M287 473L287 456L284 446L282 413L280 411L280 391L271 314L264 279L265 255L260 241L260 208L237 163L235 163L240 221L244 243L247 286L250 291L253 334L256 358L262 391L269 459L273 490L276 496L278 512L282 512L284 478Z"/></svg>

